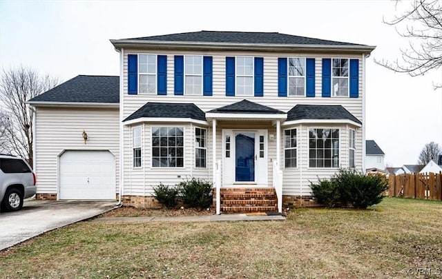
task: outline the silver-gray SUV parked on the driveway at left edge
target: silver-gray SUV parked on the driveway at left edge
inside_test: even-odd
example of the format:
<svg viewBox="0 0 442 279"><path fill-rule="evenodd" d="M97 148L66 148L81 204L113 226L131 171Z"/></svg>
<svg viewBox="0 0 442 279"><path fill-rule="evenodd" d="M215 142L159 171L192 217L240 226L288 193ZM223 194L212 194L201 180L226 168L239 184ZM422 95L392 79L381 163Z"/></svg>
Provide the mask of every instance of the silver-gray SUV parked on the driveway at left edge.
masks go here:
<svg viewBox="0 0 442 279"><path fill-rule="evenodd" d="M17 211L23 207L23 198L37 192L36 176L22 158L0 154L1 211Z"/></svg>

